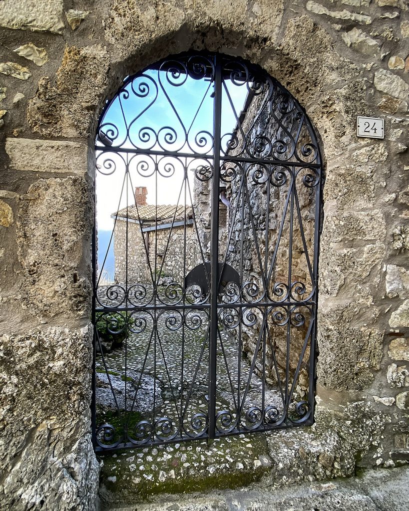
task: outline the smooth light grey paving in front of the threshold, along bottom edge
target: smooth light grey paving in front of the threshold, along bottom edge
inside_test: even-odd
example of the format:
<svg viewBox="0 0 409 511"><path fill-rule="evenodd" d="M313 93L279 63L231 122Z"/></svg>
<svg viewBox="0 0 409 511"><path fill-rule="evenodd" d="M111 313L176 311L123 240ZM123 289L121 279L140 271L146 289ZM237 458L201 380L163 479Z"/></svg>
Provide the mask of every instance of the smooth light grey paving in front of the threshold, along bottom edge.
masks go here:
<svg viewBox="0 0 409 511"><path fill-rule="evenodd" d="M360 477L327 483L256 488L161 500L101 511L409 511L409 466L368 470Z"/></svg>

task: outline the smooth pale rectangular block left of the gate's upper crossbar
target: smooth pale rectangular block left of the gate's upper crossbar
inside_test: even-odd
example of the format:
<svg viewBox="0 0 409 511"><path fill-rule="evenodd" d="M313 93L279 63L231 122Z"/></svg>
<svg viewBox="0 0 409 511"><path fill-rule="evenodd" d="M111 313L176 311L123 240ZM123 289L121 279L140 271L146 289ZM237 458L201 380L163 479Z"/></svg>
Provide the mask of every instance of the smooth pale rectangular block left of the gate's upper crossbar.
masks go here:
<svg viewBox="0 0 409 511"><path fill-rule="evenodd" d="M87 146L76 142L7 138L10 168L34 172L87 172Z"/></svg>

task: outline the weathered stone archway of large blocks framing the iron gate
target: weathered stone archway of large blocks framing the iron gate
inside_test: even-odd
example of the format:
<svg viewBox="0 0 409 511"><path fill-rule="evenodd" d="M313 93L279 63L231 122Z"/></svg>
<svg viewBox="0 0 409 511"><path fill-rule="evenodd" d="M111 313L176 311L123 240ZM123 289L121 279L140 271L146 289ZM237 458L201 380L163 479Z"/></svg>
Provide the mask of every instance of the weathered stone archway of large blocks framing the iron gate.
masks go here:
<svg viewBox="0 0 409 511"><path fill-rule="evenodd" d="M61 510L95 506L98 464L89 437L87 330L95 162L88 145L105 98L117 90L120 79L189 48L238 54L260 64L299 99L321 134L327 180L318 394L324 414L334 404L366 402L348 408L344 416L353 423L347 443L352 454L365 455L371 443L378 442L383 423L367 396L397 392L377 373L379 369L386 373L389 363L387 357L382 359L388 307L394 311L391 326L407 327L404 308L382 301L381 291L382 265L388 258L403 265L399 250L407 247L407 233L399 220L401 206L393 198L385 203L381 185L389 179L385 169L392 161L403 166L402 149L392 139L374 143L357 139L355 115L368 108L383 115L384 108L390 115L389 127L393 123L399 127L394 113L405 115L402 100L409 86L378 61L371 70L372 54L360 55L364 66L354 63L353 45L347 48L337 28L322 21L312 4L308 2L307 9L295 6L295 12L280 1L260 1L247 8L243 0L140 9L116 0L93 14L97 32L88 26L83 32L67 33L65 47L57 36L38 39L54 48L49 77L35 70L35 82L25 89L27 122L24 116L11 116L6 140L10 172L4 186L8 192L3 195L17 219L15 224L6 221L11 255L2 349L7 360L14 361L5 364L4 371L7 413L14 417L8 419L3 436L8 444L2 460L7 473L2 489L6 509L25 509L29 503ZM337 11L328 12L324 15L337 16ZM343 12L338 21L345 17L354 24L372 21L370 16L359 18L363 15L354 8ZM343 31L350 26L344 25ZM19 136L13 136L13 130L21 127ZM398 140L400 135L395 136ZM398 183L396 175L385 184L387 197L394 183ZM387 216L393 221L387 223ZM404 341L399 342L392 346L392 359L403 359ZM73 350L76 356L67 357ZM404 408L404 399L399 399L399 408ZM294 463L308 467L313 477L351 474L353 459L336 460L336 449L343 450L340 436L335 435L331 444L337 445L333 452L328 430L326 434L318 450L308 451L306 460ZM281 442L299 440L285 435L271 439L277 452ZM303 442L308 444L307 437L306 433ZM390 459L392 449L390 443L384 447L380 463ZM315 470L317 457L328 450L332 461L327 459L324 469L319 463L320 470ZM23 466L29 468L21 471Z"/></svg>

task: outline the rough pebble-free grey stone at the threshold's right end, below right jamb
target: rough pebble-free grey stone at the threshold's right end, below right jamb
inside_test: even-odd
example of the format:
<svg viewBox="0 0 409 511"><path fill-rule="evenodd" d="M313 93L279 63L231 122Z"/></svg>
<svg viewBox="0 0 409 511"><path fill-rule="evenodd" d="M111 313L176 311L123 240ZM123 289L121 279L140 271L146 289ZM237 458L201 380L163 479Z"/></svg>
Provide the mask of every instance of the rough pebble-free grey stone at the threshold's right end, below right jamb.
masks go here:
<svg viewBox="0 0 409 511"><path fill-rule="evenodd" d="M315 424L301 431L277 431L267 436L272 468L269 484L348 477L356 460L380 442L385 420L372 405L358 402L344 413L320 406Z"/></svg>

